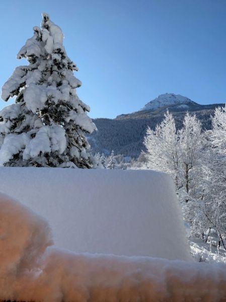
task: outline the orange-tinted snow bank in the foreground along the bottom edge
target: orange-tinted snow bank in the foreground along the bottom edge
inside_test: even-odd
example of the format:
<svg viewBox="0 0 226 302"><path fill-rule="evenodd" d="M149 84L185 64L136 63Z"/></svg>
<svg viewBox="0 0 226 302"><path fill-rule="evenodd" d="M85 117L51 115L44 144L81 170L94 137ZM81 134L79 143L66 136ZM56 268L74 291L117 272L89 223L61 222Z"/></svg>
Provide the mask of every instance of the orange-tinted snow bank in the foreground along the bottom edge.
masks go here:
<svg viewBox="0 0 226 302"><path fill-rule="evenodd" d="M2 194L0 207L1 300L225 301L223 264L82 255L47 247L51 234L43 218Z"/></svg>

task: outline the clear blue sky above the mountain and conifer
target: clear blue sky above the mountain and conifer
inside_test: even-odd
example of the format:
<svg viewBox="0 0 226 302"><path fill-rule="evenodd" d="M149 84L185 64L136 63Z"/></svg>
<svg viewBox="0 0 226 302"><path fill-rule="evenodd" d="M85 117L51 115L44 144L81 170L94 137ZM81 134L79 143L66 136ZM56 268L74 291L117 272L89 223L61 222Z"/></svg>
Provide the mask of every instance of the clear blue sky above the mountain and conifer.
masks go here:
<svg viewBox="0 0 226 302"><path fill-rule="evenodd" d="M137 111L167 92L226 101L226 0L8 0L0 9L1 87L27 64L16 54L46 12L79 67L91 117Z"/></svg>

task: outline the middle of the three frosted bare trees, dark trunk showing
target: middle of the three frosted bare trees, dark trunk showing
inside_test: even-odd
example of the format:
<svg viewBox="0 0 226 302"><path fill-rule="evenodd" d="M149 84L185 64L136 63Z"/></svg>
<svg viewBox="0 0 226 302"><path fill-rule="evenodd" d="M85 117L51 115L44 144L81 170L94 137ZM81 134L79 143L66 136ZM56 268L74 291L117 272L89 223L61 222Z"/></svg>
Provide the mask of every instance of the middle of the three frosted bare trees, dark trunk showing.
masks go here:
<svg viewBox="0 0 226 302"><path fill-rule="evenodd" d="M204 214L206 190L202 173L204 146L201 123L195 114L185 115L183 128L178 134L181 150L179 198L185 220L191 225L191 235L203 238L207 227Z"/></svg>

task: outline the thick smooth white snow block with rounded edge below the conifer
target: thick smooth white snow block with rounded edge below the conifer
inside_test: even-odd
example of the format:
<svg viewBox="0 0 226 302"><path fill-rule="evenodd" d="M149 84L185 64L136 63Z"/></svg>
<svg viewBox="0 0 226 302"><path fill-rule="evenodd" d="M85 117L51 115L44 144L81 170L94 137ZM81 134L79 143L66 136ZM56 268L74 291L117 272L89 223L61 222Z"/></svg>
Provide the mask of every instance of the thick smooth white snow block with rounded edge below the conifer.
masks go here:
<svg viewBox="0 0 226 302"><path fill-rule="evenodd" d="M154 171L0 168L0 191L45 217L57 247L188 260L171 178Z"/></svg>

